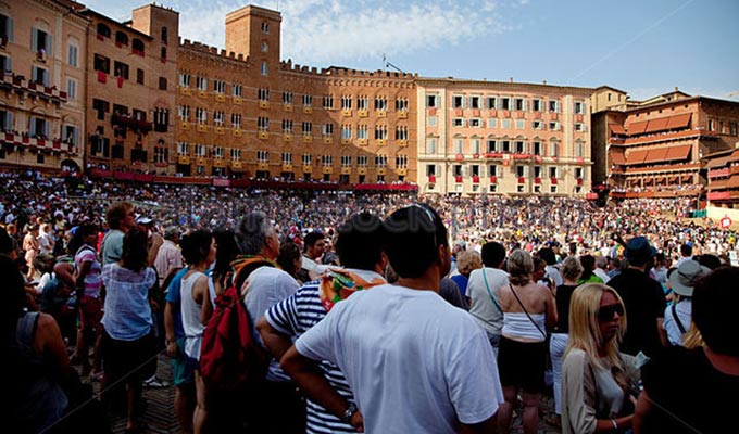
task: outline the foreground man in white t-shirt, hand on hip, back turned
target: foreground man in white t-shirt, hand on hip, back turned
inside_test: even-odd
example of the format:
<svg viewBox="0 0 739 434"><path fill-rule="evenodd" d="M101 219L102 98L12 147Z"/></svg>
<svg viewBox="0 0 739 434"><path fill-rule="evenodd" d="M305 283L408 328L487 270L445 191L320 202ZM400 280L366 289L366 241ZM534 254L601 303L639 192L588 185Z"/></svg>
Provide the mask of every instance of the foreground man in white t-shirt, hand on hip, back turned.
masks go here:
<svg viewBox="0 0 739 434"><path fill-rule="evenodd" d="M280 366L331 413L368 433L492 433L503 401L496 358L480 327L444 302L447 228L412 205L384 222L397 284L358 291L291 346ZM316 372L318 360L345 373L356 407Z"/></svg>

